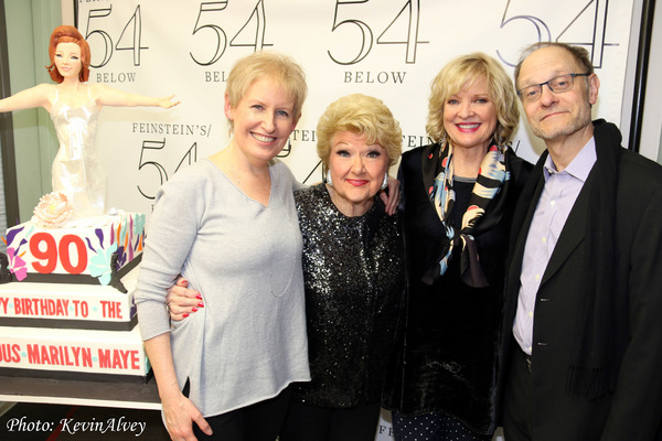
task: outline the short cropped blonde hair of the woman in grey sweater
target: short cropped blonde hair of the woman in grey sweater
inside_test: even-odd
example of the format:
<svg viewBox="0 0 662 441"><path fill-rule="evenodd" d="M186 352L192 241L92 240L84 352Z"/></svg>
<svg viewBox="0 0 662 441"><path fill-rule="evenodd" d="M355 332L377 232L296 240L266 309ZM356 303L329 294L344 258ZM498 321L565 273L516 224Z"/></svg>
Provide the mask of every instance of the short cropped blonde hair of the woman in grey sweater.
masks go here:
<svg viewBox="0 0 662 441"><path fill-rule="evenodd" d="M275 51L254 52L235 63L225 86L229 106L236 108L253 83L263 78L274 79L285 88L293 101L292 116L297 121L308 95L306 74L292 58ZM229 128L233 128L232 120Z"/></svg>

